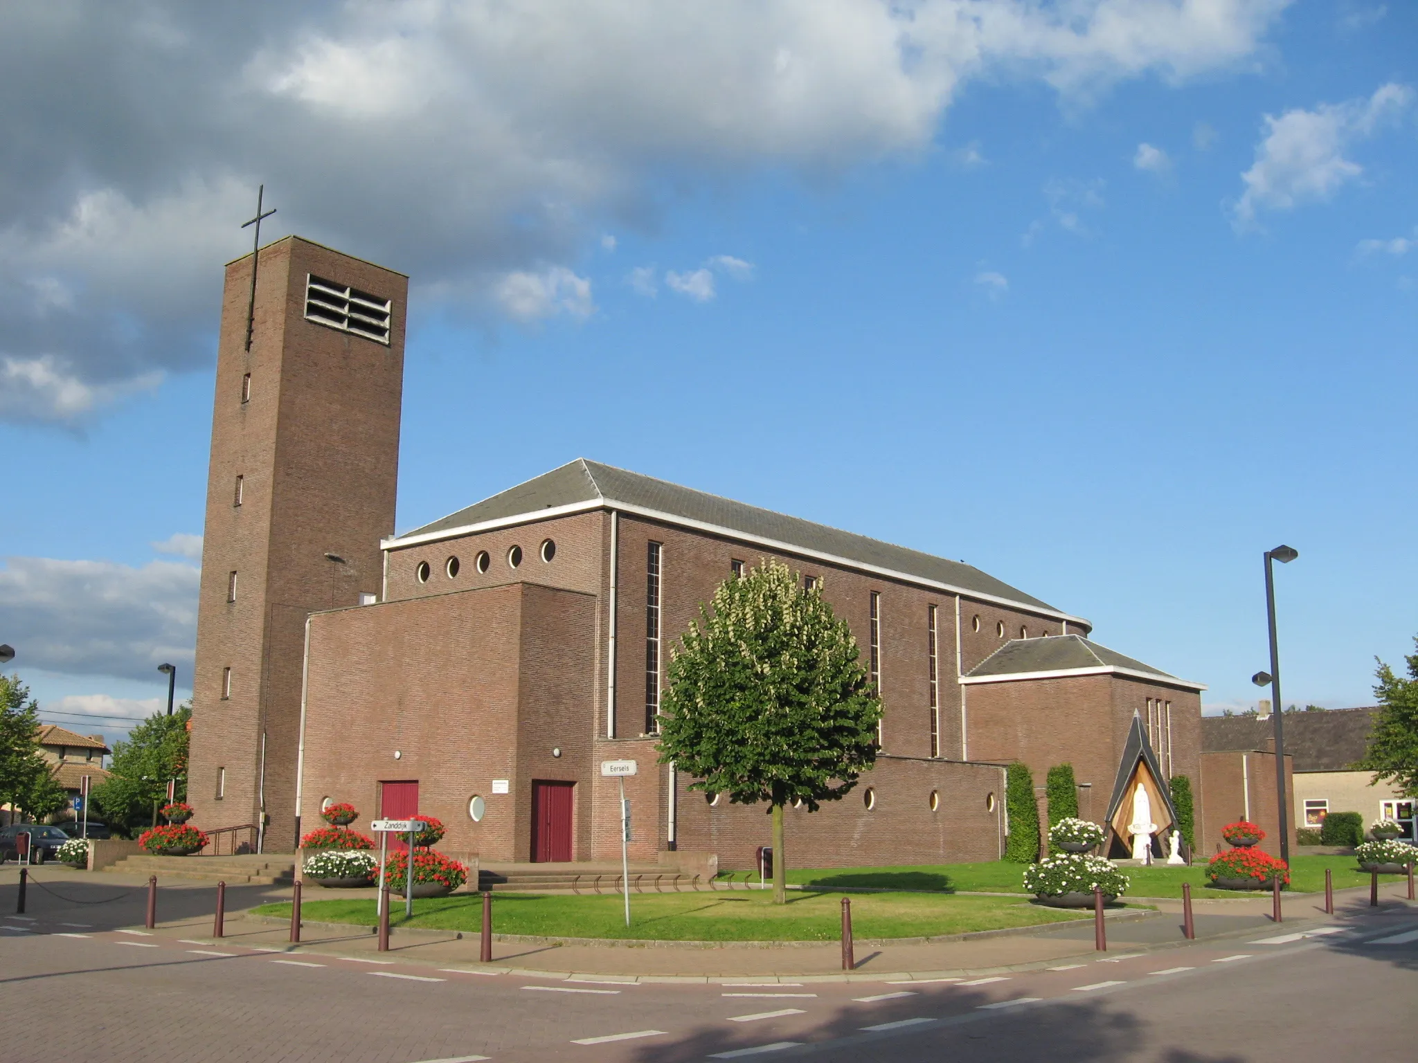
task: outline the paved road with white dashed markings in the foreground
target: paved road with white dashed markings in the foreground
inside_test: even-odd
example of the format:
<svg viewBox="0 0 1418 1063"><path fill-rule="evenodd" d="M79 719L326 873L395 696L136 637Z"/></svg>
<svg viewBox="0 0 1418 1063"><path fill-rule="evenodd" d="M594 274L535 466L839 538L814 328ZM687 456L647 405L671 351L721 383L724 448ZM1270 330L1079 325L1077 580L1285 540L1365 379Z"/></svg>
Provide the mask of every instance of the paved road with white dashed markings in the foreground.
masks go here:
<svg viewBox="0 0 1418 1063"><path fill-rule="evenodd" d="M942 982L655 985L0 917L0 1060L1411 1060L1418 910ZM749 979L744 979L746 982Z"/></svg>

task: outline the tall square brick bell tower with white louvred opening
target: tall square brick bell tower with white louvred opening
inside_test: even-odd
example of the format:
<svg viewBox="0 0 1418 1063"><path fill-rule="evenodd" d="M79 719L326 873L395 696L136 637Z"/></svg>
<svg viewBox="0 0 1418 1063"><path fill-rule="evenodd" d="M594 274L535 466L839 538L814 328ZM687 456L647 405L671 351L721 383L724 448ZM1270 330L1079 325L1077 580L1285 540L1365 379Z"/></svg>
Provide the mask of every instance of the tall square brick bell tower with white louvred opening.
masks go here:
<svg viewBox="0 0 1418 1063"><path fill-rule="evenodd" d="M306 617L380 591L407 293L299 237L227 265L187 799L206 831L261 826L265 852L298 842Z"/></svg>

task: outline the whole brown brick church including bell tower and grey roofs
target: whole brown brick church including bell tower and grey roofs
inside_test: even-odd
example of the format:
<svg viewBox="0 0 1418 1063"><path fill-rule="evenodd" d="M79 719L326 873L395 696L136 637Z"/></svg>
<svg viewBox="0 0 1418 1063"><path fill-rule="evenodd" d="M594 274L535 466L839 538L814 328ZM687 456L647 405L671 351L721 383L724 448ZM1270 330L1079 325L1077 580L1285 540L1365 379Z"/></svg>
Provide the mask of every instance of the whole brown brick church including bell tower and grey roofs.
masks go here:
<svg viewBox="0 0 1418 1063"><path fill-rule="evenodd" d="M1200 789L1202 685L964 563L584 459L396 534L407 288L298 237L227 266L189 777L204 829L259 823L289 852L352 801L438 816L440 848L484 862L601 860L620 809L600 763L634 760L632 859L749 867L766 808L688 789L655 730L679 634L766 558L848 621L885 710L856 789L790 809L797 863L995 859L1012 760L1041 788L1072 763L1115 843L1139 782L1161 831L1166 780Z"/></svg>

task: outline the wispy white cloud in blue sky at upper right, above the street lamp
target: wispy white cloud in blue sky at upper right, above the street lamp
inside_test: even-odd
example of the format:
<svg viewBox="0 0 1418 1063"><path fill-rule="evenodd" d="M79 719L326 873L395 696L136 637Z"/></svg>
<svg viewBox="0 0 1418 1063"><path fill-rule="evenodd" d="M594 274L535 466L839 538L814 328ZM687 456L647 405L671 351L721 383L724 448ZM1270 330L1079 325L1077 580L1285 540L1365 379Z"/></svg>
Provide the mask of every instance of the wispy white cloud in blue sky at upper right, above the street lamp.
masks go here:
<svg viewBox="0 0 1418 1063"><path fill-rule="evenodd" d="M1322 103L1314 111L1296 108L1279 118L1266 115L1255 163L1241 174L1245 191L1234 208L1236 227L1252 225L1262 208L1292 210L1319 203L1357 180L1364 167L1344 152L1402 113L1412 95L1407 85L1390 82L1368 99Z"/></svg>

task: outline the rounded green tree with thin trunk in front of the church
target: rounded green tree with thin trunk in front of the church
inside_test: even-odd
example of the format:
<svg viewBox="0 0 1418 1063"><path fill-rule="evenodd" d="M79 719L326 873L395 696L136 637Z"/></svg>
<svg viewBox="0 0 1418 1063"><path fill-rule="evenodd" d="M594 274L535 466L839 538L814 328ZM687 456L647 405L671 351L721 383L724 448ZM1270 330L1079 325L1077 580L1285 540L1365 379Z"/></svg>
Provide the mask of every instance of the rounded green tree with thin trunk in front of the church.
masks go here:
<svg viewBox="0 0 1418 1063"><path fill-rule="evenodd" d="M783 808L839 801L876 763L881 702L822 595L769 561L730 577L672 651L659 761L691 789L769 804L773 899L787 903Z"/></svg>

